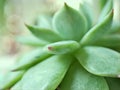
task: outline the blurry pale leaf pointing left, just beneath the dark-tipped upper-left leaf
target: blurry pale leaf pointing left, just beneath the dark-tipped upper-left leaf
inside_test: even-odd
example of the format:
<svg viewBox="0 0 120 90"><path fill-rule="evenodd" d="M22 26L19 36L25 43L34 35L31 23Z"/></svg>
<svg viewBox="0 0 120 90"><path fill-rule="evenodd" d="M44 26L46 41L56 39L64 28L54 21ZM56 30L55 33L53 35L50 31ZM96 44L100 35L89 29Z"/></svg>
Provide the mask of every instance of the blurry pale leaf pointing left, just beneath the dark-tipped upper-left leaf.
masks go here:
<svg viewBox="0 0 120 90"><path fill-rule="evenodd" d="M16 41L21 44L25 44L25 45L29 45L29 46L44 46L44 45L48 44L48 42L39 40L38 38L36 38L34 36L17 36Z"/></svg>

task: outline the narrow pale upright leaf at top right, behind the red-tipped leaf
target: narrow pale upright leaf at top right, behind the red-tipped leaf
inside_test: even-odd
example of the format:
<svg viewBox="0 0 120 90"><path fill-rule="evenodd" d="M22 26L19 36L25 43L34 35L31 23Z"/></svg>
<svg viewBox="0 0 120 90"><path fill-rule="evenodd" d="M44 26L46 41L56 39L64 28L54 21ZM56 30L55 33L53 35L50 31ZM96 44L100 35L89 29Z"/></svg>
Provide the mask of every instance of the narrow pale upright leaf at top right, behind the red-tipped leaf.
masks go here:
<svg viewBox="0 0 120 90"><path fill-rule="evenodd" d="M112 10L112 8L113 8L113 0L107 0L106 4L100 14L99 22L104 20L105 16Z"/></svg>

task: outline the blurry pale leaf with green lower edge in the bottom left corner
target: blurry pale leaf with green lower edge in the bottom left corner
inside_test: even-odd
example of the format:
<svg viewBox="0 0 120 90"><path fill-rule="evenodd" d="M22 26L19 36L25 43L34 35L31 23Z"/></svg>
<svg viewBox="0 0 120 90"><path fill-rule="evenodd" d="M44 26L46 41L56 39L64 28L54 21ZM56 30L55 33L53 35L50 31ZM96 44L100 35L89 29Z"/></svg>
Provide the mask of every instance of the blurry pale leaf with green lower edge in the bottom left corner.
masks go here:
<svg viewBox="0 0 120 90"><path fill-rule="evenodd" d="M4 76L2 81L2 85L0 85L0 90L8 90L11 88L16 82L18 82L23 76L25 71L18 72L9 72Z"/></svg>

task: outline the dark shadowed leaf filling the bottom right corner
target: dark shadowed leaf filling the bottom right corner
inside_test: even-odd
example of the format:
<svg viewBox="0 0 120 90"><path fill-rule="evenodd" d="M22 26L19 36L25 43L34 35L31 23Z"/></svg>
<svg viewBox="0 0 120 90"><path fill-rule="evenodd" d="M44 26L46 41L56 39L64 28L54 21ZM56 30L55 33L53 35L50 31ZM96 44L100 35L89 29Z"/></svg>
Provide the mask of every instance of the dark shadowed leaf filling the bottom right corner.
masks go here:
<svg viewBox="0 0 120 90"><path fill-rule="evenodd" d="M120 90L120 78L106 78L110 90Z"/></svg>

